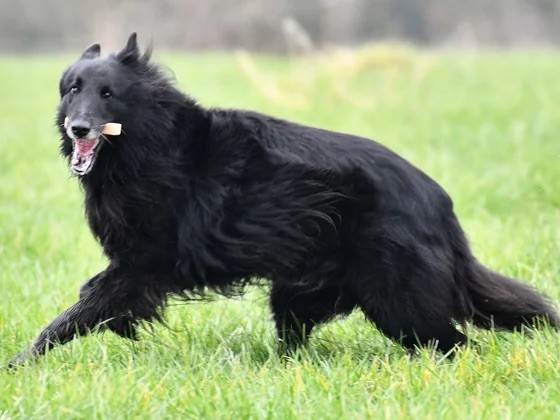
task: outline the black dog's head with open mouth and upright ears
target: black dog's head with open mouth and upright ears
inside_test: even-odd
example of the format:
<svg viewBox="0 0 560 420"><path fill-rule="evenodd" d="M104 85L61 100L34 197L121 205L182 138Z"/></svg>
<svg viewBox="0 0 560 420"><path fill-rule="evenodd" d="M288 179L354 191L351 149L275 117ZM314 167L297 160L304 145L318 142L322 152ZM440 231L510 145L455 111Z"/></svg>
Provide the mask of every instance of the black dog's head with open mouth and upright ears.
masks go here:
<svg viewBox="0 0 560 420"><path fill-rule="evenodd" d="M62 153L74 174L91 172L96 161L123 154L121 140L142 125L140 109L153 109L149 51L140 54L136 33L118 53L102 58L99 44L87 48L60 80L57 124ZM149 111L148 111L149 112ZM123 139L103 134L107 123L122 124Z"/></svg>

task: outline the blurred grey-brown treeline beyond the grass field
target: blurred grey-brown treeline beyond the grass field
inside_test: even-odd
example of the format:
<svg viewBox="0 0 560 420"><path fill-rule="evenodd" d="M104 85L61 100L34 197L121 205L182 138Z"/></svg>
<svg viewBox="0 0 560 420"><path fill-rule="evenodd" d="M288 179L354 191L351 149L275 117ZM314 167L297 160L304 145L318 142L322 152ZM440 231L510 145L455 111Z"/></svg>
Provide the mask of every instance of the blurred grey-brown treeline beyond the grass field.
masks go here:
<svg viewBox="0 0 560 420"><path fill-rule="evenodd" d="M115 48L293 54L392 40L438 48L560 44L558 0L0 0L0 53Z"/></svg>

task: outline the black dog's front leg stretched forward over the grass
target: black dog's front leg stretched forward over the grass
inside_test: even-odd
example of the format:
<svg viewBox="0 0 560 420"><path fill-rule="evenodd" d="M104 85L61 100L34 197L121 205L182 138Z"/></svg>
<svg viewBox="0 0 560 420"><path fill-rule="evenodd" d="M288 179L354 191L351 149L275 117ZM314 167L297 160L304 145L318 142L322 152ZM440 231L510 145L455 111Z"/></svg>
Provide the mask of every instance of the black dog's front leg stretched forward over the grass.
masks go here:
<svg viewBox="0 0 560 420"><path fill-rule="evenodd" d="M166 292L160 284L146 274L115 268L94 276L82 286L80 300L55 318L31 348L14 357L9 366L43 355L57 344L92 331L108 329L123 337L135 338L135 327L140 321L160 319L159 308L166 300Z"/></svg>

